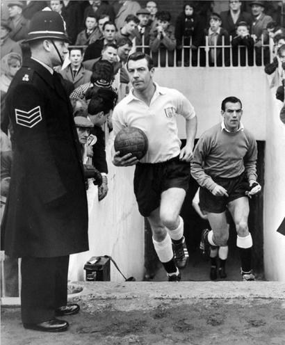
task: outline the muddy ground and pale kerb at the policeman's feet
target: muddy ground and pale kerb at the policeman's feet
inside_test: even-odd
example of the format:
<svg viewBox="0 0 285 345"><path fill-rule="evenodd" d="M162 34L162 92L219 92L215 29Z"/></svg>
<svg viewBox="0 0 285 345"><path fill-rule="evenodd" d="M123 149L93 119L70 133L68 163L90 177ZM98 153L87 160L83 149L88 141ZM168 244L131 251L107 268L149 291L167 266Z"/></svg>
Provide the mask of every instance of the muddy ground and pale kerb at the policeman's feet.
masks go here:
<svg viewBox="0 0 285 345"><path fill-rule="evenodd" d="M72 295L71 295L72 296ZM285 283L93 282L63 333L24 330L1 308L2 345L284 345Z"/></svg>

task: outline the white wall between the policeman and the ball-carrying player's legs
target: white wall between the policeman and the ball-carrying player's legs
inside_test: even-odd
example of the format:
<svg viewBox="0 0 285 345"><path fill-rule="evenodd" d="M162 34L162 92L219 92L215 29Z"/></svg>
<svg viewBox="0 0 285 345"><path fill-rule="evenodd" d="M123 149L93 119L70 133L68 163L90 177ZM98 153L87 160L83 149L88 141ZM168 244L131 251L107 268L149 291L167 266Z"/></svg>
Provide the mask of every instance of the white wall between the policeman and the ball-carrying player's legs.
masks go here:
<svg viewBox="0 0 285 345"><path fill-rule="evenodd" d="M122 273L142 280L144 275L144 218L138 213L133 194L133 167L117 168L111 163L111 145L106 146L108 194L98 202L97 187L91 182L87 191L89 213L88 252L70 257L69 280L83 280L84 264L92 256L111 255ZM111 263L111 281L124 281Z"/></svg>

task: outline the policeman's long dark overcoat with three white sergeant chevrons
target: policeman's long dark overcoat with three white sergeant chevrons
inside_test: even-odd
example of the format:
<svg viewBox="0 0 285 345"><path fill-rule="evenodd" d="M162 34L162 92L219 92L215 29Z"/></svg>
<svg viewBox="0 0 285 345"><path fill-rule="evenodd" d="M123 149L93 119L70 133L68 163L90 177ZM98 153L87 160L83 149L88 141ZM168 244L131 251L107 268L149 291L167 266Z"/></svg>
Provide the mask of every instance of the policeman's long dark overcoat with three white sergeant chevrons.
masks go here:
<svg viewBox="0 0 285 345"><path fill-rule="evenodd" d="M58 257L88 250L79 141L60 78L30 59L8 90L15 146L3 230L10 256Z"/></svg>

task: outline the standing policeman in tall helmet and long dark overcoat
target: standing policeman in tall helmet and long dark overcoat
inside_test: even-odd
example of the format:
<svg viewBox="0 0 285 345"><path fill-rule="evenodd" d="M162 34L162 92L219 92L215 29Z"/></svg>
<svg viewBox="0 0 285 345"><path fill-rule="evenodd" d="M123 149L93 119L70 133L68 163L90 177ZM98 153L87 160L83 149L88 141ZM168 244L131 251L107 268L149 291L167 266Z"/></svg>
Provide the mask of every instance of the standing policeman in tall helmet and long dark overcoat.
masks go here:
<svg viewBox="0 0 285 345"><path fill-rule="evenodd" d="M88 207L72 106L53 67L67 53L65 23L43 10L31 20L31 59L17 72L6 106L14 164L3 220L4 247L22 257L22 322L46 332L67 330L55 316L67 305L69 255L88 250Z"/></svg>

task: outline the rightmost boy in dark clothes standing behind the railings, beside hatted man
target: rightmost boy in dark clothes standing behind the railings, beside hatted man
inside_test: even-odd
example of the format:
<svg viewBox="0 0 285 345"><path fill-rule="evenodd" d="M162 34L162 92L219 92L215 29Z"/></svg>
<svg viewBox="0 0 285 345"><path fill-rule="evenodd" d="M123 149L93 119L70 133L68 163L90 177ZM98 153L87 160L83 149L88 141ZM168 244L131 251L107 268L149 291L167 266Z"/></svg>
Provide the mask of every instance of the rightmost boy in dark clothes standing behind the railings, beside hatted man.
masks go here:
<svg viewBox="0 0 285 345"><path fill-rule="evenodd" d="M231 46L234 66L253 65L254 39L250 36L250 26L246 22L237 24L236 36L231 40Z"/></svg>

